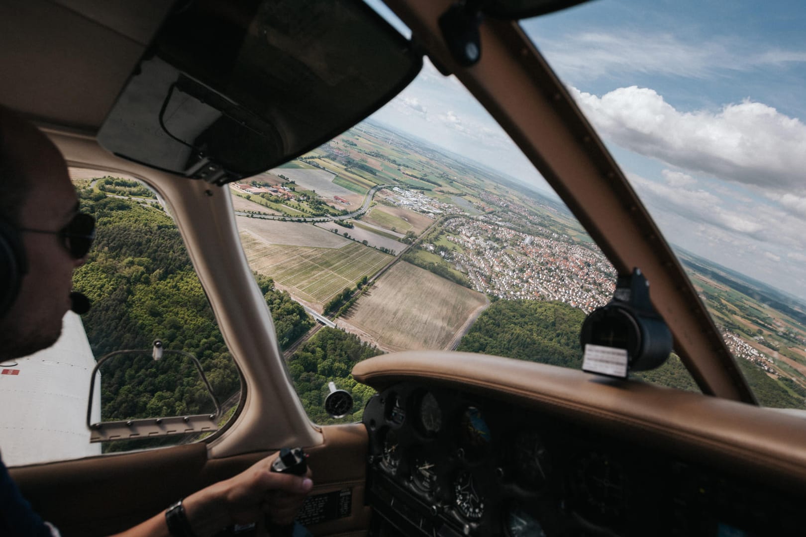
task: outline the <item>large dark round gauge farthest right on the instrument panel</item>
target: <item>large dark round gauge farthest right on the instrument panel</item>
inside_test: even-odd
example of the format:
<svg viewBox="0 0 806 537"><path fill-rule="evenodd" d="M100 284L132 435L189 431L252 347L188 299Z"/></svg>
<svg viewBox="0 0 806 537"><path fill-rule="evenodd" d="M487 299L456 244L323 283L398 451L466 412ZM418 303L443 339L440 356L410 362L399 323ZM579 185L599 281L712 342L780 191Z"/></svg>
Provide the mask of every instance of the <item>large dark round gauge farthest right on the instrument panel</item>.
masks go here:
<svg viewBox="0 0 806 537"><path fill-rule="evenodd" d="M625 474L617 461L591 453L580 465L580 485L584 501L595 514L605 517L621 514L625 506Z"/></svg>

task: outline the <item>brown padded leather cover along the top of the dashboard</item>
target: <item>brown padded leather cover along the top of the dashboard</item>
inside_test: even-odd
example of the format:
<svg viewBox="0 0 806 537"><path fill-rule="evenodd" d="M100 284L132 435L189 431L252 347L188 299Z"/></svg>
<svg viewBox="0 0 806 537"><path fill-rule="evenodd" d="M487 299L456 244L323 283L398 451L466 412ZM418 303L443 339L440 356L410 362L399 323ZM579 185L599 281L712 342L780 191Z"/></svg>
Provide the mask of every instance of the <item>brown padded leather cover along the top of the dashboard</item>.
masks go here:
<svg viewBox="0 0 806 537"><path fill-rule="evenodd" d="M385 354L359 362L352 374L379 391L401 380L452 386L776 485L806 482L806 419L784 411L474 353Z"/></svg>

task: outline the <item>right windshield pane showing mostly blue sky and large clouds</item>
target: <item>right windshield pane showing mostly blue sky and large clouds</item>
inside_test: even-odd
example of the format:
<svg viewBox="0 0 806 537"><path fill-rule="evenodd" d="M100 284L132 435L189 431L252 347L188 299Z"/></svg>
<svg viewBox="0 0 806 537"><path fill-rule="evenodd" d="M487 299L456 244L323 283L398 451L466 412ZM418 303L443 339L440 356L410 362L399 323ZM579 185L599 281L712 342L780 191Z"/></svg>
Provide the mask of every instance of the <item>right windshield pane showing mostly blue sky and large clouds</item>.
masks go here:
<svg viewBox="0 0 806 537"><path fill-rule="evenodd" d="M521 26L646 204L763 405L804 407L794 2L591 2Z"/></svg>

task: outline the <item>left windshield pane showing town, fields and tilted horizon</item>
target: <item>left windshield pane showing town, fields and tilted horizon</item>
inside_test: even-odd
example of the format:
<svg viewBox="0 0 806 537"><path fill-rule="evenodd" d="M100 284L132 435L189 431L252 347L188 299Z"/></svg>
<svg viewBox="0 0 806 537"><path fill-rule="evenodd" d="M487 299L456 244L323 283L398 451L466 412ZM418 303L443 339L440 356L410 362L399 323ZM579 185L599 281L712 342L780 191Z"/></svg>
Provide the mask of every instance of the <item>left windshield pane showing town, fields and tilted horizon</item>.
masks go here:
<svg viewBox="0 0 806 537"><path fill-rule="evenodd" d="M356 361L459 350L580 369L616 271L501 127L427 60L366 121L230 186L241 242L317 423ZM305 308L300 316L295 303ZM696 390L672 355L638 378Z"/></svg>

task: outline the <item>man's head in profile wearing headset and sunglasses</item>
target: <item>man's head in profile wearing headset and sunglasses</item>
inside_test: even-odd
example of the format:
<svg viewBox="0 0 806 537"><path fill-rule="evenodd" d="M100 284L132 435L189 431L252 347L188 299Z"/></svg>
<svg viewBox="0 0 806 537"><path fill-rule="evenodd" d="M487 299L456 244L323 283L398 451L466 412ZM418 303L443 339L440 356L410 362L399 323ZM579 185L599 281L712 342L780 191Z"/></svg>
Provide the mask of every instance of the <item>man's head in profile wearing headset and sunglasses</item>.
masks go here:
<svg viewBox="0 0 806 537"><path fill-rule="evenodd" d="M56 232L77 212L77 196L56 146L35 126L0 107L0 219L14 229ZM55 233L18 232L27 271L0 314L0 356L21 357L58 339L70 308L71 257ZM7 283L3 282L3 285Z"/></svg>

